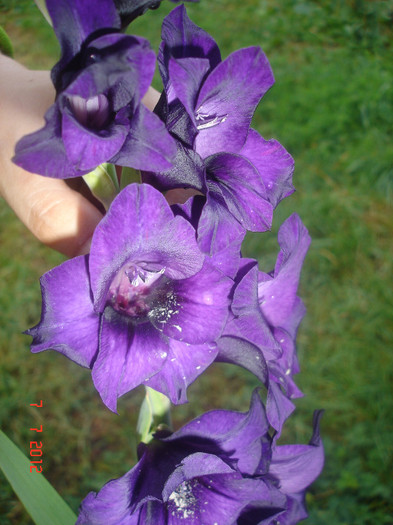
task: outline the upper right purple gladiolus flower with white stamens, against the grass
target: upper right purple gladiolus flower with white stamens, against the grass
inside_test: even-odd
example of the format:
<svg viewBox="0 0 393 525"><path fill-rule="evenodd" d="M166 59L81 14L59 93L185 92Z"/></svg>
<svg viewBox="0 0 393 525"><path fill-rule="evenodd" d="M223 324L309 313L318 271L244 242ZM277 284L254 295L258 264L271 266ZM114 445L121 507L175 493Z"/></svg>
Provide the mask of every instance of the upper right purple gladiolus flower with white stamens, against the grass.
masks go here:
<svg viewBox="0 0 393 525"><path fill-rule="evenodd" d="M156 108L177 140L174 166L144 173L161 190L194 188L205 198L182 210L198 242L215 253L246 230L270 228L273 208L293 192L293 159L250 129L273 84L262 50L240 49L221 61L215 41L180 6L164 20L160 72L165 97Z"/></svg>

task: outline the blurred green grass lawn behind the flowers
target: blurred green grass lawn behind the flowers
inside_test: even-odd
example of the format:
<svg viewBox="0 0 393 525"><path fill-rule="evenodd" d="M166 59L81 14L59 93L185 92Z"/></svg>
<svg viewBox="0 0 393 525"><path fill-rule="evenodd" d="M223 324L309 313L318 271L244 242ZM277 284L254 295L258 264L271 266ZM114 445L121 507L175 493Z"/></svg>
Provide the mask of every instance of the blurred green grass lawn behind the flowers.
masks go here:
<svg viewBox="0 0 393 525"><path fill-rule="evenodd" d="M161 8L132 31L159 44ZM223 56L260 45L276 85L254 127L296 160L297 192L275 212L271 233L247 238L245 254L265 271L276 234L293 211L313 243L301 295L308 308L298 337L306 394L283 440L307 442L312 411L325 408L326 467L307 495L315 525L393 523L393 6L363 0L201 0L192 19ZM33 68L58 58L51 29L28 0L0 0L0 23L15 57ZM0 79L1 81L1 79ZM158 79L155 80L159 87ZM133 432L142 392L126 395L120 417L102 405L90 373L54 352L32 355L21 332L40 312L40 275L62 257L41 246L0 202L0 426L28 454L42 424L44 472L77 511L90 490L135 461ZM247 409L255 380L213 366L177 407L180 425L214 407ZM44 407L30 407L43 400ZM30 523L0 476L0 523Z"/></svg>

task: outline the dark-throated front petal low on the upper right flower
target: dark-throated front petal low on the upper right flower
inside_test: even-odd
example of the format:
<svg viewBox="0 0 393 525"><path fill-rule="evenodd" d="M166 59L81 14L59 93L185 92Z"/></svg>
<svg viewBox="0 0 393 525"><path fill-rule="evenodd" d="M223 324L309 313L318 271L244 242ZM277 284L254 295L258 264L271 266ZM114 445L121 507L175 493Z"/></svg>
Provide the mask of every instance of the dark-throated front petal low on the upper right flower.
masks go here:
<svg viewBox="0 0 393 525"><path fill-rule="evenodd" d="M249 231L271 227L273 207L261 175L244 157L222 153L206 159L209 192L220 192L230 213Z"/></svg>

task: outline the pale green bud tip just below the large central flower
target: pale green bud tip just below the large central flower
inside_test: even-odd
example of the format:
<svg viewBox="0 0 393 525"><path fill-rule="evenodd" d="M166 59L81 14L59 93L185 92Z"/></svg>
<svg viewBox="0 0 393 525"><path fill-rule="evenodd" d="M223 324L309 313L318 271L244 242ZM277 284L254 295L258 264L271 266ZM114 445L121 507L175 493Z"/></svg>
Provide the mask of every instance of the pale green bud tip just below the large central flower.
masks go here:
<svg viewBox="0 0 393 525"><path fill-rule="evenodd" d="M158 427L171 427L171 402L160 392L146 388L145 399L139 412L137 432L140 440L149 443Z"/></svg>

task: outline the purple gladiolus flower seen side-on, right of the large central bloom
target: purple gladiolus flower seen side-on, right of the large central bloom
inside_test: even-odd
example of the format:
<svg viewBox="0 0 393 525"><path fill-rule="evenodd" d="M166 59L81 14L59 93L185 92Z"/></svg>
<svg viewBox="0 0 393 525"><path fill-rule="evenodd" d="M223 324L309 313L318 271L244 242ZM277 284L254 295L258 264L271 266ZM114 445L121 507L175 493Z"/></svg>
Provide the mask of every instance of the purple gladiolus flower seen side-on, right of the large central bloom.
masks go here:
<svg viewBox="0 0 393 525"><path fill-rule="evenodd" d="M281 249L271 274L258 271L256 261L243 259L232 314L218 343L218 360L243 366L267 386L267 417L277 437L295 408L290 399L302 396L293 381L299 372L296 333L305 314L296 292L310 240L293 214L279 230Z"/></svg>

